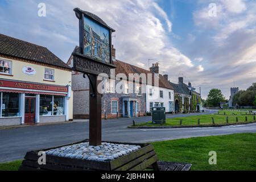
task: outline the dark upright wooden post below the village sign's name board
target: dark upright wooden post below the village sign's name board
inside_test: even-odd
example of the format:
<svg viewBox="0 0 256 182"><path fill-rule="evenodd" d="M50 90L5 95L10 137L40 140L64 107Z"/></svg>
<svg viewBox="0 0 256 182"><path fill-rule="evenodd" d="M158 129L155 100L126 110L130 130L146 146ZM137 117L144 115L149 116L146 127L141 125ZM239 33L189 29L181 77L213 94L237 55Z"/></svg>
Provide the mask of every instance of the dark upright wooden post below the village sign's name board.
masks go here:
<svg viewBox="0 0 256 182"><path fill-rule="evenodd" d="M89 75L90 80L90 98L89 98L89 145L101 145L101 97L102 94L97 92L97 86L100 80L96 75ZM95 90L94 90L94 89ZM95 93L94 93L95 91Z"/></svg>

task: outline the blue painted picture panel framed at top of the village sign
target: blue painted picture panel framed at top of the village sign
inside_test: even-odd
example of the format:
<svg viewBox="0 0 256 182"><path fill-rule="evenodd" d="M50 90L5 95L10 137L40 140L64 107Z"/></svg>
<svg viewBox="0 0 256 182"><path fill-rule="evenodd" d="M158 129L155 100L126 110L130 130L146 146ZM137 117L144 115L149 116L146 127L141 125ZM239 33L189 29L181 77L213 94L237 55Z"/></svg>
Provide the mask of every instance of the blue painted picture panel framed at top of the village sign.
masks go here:
<svg viewBox="0 0 256 182"><path fill-rule="evenodd" d="M110 31L84 16L84 55L110 63Z"/></svg>

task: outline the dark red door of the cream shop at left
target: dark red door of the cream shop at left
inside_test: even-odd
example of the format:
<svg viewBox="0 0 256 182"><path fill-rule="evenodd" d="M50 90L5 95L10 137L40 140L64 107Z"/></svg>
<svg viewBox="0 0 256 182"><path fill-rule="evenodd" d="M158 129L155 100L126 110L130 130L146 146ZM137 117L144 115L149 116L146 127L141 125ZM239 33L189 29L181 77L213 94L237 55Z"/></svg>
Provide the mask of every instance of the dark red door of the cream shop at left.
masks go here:
<svg viewBox="0 0 256 182"><path fill-rule="evenodd" d="M35 97L25 98L25 123L35 123Z"/></svg>

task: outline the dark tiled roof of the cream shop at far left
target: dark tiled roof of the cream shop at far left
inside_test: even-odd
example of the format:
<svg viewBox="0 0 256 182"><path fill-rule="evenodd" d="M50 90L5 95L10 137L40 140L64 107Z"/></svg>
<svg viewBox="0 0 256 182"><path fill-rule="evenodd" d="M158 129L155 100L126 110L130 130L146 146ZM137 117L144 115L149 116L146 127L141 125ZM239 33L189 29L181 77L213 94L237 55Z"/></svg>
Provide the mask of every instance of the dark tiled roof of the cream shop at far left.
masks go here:
<svg viewBox="0 0 256 182"><path fill-rule="evenodd" d="M0 54L71 69L46 47L0 34Z"/></svg>

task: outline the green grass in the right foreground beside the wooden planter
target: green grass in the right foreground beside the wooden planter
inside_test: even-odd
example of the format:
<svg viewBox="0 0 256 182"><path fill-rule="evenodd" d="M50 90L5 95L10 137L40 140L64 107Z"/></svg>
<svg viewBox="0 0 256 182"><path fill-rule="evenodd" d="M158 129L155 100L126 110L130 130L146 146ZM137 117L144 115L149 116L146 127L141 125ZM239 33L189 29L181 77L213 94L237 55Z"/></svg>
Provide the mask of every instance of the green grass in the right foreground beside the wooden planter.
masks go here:
<svg viewBox="0 0 256 182"><path fill-rule="evenodd" d="M256 134L233 134L213 137L155 142L160 160L193 164L192 170L256 170ZM209 151L217 152L217 165L209 165Z"/></svg>

